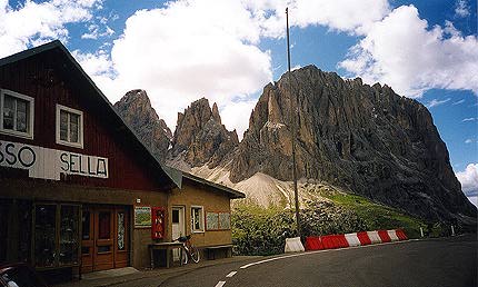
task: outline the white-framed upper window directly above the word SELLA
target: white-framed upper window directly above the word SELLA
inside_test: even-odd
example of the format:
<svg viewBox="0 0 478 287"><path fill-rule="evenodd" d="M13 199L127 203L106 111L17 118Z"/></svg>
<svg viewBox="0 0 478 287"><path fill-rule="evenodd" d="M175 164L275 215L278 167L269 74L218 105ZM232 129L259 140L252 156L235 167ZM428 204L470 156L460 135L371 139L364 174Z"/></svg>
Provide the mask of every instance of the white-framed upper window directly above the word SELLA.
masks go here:
<svg viewBox="0 0 478 287"><path fill-rule="evenodd" d="M57 105L57 144L83 148L83 112Z"/></svg>

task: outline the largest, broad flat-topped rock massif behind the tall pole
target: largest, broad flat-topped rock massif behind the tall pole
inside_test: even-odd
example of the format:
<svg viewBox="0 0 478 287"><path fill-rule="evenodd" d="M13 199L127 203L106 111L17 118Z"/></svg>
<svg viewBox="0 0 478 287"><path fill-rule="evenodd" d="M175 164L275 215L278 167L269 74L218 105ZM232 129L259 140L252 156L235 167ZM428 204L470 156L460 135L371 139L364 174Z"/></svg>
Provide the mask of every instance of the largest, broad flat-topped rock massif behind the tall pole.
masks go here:
<svg viewBox="0 0 478 287"><path fill-rule="evenodd" d="M297 172L428 219L475 220L430 112L387 86L343 80L315 66L263 89L230 165L230 180ZM291 108L296 107L296 108Z"/></svg>

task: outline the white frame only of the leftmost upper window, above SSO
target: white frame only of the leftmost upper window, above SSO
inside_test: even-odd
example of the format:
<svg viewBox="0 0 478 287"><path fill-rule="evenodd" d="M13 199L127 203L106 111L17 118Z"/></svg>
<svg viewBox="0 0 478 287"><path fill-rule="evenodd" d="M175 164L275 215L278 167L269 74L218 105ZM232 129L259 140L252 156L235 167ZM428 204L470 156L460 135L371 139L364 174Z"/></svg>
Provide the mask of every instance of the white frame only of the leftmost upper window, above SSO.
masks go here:
<svg viewBox="0 0 478 287"><path fill-rule="evenodd" d="M11 130L11 129L4 129L3 128L3 106L4 106L4 96L10 96L12 98L17 98L17 99L21 99L28 102L28 107L29 107L29 115L28 119L27 119L27 132L23 131L18 131L18 130ZM0 89L0 133L3 135L9 135L9 136L14 136L14 137L20 137L20 138L26 138L26 139L33 139L33 128L34 128L34 98L29 97L27 95L20 93L20 92L16 92L16 91L11 91L8 89ZM16 122L16 119L13 119L13 121ZM16 125L13 123L13 127Z"/></svg>

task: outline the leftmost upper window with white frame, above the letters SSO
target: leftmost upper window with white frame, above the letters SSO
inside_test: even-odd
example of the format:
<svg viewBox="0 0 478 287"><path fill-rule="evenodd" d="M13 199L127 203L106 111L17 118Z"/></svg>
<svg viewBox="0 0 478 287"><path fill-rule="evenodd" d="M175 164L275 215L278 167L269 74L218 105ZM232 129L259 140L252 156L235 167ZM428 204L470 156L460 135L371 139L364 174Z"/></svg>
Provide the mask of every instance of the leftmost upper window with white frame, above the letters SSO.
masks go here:
<svg viewBox="0 0 478 287"><path fill-rule="evenodd" d="M34 99L0 90L0 132L33 139Z"/></svg>

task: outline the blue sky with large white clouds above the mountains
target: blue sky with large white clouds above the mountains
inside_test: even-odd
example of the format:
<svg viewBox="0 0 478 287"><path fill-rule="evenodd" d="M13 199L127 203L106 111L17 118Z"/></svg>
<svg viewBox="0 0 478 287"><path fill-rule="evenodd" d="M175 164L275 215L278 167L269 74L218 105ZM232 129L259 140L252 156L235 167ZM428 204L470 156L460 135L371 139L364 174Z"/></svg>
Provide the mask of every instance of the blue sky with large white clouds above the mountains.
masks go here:
<svg viewBox="0 0 478 287"><path fill-rule="evenodd" d="M61 39L107 97L143 88L171 129L207 97L241 133L262 87L313 63L387 83L434 116L464 191L478 196L475 0L0 0L0 57Z"/></svg>

